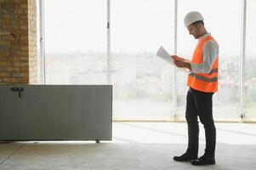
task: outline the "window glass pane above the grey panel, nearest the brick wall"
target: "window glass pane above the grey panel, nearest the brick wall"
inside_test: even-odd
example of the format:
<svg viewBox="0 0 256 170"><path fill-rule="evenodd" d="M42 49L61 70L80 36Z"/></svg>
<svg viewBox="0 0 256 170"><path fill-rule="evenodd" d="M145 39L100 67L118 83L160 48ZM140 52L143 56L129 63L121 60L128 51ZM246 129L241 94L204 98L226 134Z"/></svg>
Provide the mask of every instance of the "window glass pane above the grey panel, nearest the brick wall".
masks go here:
<svg viewBox="0 0 256 170"><path fill-rule="evenodd" d="M46 83L106 83L106 0L44 2Z"/></svg>

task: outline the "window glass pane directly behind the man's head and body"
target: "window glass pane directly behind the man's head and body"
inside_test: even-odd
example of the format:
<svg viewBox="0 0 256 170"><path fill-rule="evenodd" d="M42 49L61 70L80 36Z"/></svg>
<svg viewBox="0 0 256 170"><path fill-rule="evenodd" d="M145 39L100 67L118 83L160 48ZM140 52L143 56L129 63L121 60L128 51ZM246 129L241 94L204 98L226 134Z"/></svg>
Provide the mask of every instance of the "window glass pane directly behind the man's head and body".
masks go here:
<svg viewBox="0 0 256 170"><path fill-rule="evenodd" d="M219 92L213 95L215 119L239 118L241 5L240 0L216 0L210 4L204 0L179 1L178 54L191 59L198 42L189 35L183 23L185 14L190 11L203 14L208 32L219 43ZM185 115L186 78L184 73L178 73L178 116Z"/></svg>

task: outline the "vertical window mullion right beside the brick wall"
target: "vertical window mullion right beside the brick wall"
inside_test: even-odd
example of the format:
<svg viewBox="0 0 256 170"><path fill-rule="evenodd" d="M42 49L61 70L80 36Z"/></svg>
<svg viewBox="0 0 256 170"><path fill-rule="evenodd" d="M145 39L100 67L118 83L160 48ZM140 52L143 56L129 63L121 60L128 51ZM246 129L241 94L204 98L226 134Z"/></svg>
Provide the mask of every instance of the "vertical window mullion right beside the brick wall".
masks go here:
<svg viewBox="0 0 256 170"><path fill-rule="evenodd" d="M44 0L39 0L40 83L45 84Z"/></svg>

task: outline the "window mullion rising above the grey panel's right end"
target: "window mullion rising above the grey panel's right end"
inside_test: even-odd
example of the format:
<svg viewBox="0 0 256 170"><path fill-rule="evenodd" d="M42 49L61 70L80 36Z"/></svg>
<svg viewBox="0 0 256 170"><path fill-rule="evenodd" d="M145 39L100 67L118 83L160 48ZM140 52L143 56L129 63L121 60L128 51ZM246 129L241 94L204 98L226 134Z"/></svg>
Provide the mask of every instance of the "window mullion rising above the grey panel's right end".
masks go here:
<svg viewBox="0 0 256 170"><path fill-rule="evenodd" d="M107 83L111 84L111 0L107 0L107 50L106 50L106 77Z"/></svg>

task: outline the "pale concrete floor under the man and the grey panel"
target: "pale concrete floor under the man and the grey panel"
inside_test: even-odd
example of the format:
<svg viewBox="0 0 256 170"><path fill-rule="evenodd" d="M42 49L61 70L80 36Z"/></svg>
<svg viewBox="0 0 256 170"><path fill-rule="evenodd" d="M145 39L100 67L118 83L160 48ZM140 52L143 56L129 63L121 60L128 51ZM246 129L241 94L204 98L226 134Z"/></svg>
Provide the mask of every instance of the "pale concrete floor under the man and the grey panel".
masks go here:
<svg viewBox="0 0 256 170"><path fill-rule="evenodd" d="M0 170L256 169L256 124L216 123L216 165L173 161L186 148L186 124L114 122L113 140L0 143ZM200 155L204 133L200 127Z"/></svg>

